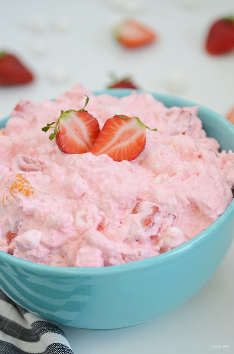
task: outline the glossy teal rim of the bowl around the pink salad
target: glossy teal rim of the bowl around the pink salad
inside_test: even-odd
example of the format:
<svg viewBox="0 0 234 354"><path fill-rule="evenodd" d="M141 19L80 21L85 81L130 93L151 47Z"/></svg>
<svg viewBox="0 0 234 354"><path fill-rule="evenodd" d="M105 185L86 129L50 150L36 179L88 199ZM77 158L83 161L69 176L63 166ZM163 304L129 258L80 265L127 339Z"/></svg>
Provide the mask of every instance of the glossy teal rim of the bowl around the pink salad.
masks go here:
<svg viewBox="0 0 234 354"><path fill-rule="evenodd" d="M185 107L185 106L192 106L198 107L198 115L199 112L212 114L216 117L222 124L227 126L227 129L233 130L234 136L234 125L230 123L226 118L221 116L220 114L216 113L210 108L207 108L201 104L196 102L190 101L188 99L184 99L181 97L168 95L167 93L157 93L154 91L149 90L134 90L134 89L104 89L104 90L94 90L92 93L94 95L105 95L109 94L116 97L122 97L130 95L133 91L137 93L149 93L154 96L158 101L163 98L167 98L170 101L173 101L173 106L178 105L178 107ZM121 95L120 95L121 94ZM174 104L174 102L176 102ZM172 107L172 106L171 106ZM6 124L9 117L5 117L0 119L0 124ZM125 263L125 264L118 264L118 265L110 265L106 267L58 267L53 265L44 265L38 264L31 261L25 261L24 259L17 258L13 255L10 255L6 252L0 251L0 261L4 261L11 266L17 268L27 269L29 272L36 272L37 274L47 274L47 275L58 275L58 276L103 276L106 274L118 274L122 272L128 271L135 271L138 269L143 269L146 267L155 266L157 264L161 264L163 262L167 262L180 256L181 253L186 252L189 250L193 245L196 245L198 242L205 242L207 238L212 237L213 231L217 230L222 223L228 221L228 219L234 214L234 200L230 202L228 207L224 210L224 212L210 224L206 229L204 229L201 233L194 236L192 239L186 241L184 244L175 247L174 249L161 253L157 256L149 257L146 259L142 259L135 262Z"/></svg>

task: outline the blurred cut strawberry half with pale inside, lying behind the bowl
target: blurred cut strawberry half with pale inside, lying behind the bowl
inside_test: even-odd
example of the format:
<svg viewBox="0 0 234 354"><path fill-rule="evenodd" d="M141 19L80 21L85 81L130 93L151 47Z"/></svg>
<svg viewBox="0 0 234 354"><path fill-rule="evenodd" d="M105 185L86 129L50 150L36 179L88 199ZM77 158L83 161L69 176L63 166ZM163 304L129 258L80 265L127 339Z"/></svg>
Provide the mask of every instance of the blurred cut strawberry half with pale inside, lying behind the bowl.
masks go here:
<svg viewBox="0 0 234 354"><path fill-rule="evenodd" d="M115 37L123 46L136 48L154 42L157 34L144 24L128 19L115 28Z"/></svg>

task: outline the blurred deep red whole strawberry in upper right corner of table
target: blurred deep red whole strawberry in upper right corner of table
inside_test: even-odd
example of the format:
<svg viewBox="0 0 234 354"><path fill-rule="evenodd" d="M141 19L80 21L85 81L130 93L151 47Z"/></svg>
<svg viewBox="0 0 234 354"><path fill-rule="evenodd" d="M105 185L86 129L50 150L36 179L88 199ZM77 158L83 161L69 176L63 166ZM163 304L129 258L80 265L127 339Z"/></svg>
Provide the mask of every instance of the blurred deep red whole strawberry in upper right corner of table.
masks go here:
<svg viewBox="0 0 234 354"><path fill-rule="evenodd" d="M217 19L211 25L205 47L211 55L220 55L234 50L234 15Z"/></svg>

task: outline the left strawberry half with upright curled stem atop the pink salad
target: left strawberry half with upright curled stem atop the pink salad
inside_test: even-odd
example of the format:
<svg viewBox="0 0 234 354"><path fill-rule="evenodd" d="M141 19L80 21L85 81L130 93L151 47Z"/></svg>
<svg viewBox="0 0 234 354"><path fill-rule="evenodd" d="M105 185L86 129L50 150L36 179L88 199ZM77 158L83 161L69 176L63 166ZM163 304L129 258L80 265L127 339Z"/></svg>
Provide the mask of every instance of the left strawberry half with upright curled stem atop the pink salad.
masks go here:
<svg viewBox="0 0 234 354"><path fill-rule="evenodd" d="M53 140L55 137L59 149L66 154L89 152L100 133L97 119L84 109L89 102L89 97L86 97L83 108L69 109L65 112L62 110L56 122L49 123L42 128L44 132L50 128L54 129L49 139Z"/></svg>

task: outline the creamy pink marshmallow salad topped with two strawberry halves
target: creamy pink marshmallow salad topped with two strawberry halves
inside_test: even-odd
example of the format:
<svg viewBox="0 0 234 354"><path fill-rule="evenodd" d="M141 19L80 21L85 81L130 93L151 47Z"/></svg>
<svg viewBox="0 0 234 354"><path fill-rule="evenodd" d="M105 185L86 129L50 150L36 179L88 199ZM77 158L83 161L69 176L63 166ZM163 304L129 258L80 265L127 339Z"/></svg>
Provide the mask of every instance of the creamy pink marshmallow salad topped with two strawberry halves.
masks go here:
<svg viewBox="0 0 234 354"><path fill-rule="evenodd" d="M234 153L219 151L197 111L80 84L55 101L20 101L0 130L0 250L103 267L202 232L233 199Z"/></svg>

